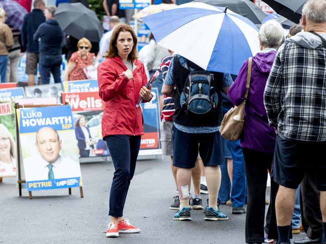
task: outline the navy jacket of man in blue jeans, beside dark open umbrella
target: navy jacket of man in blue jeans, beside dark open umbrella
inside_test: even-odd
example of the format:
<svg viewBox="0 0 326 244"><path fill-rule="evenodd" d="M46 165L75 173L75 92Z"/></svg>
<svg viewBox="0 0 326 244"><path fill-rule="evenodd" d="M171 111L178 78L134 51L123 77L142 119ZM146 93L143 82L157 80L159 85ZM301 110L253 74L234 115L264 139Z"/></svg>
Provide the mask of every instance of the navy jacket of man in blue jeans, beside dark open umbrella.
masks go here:
<svg viewBox="0 0 326 244"><path fill-rule="evenodd" d="M63 36L64 33L62 32L57 20L52 18L39 26L33 38L35 41L41 38L40 53L61 55Z"/></svg>

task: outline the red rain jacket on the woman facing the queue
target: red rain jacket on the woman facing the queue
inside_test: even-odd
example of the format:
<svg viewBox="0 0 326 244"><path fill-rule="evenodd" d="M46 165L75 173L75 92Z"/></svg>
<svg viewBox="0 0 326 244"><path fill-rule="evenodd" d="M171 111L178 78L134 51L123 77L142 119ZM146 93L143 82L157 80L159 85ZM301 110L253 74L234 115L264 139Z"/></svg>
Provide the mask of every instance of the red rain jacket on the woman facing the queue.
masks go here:
<svg viewBox="0 0 326 244"><path fill-rule="evenodd" d="M105 58L98 67L99 95L105 101L102 117L102 136L113 134L142 135L143 118L140 106L136 108L140 88L147 83L144 65L134 60L133 78L119 56Z"/></svg>

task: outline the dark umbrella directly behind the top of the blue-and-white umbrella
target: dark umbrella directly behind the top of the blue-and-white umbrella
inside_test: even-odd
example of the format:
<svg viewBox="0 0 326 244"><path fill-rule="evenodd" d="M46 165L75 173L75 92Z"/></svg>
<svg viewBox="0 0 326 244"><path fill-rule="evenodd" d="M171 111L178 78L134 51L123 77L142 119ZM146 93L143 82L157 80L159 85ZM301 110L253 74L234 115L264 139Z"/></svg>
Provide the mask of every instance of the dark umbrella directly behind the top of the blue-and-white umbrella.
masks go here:
<svg viewBox="0 0 326 244"><path fill-rule="evenodd" d="M249 0L194 0L213 6L228 7L231 11L249 18L254 24L261 24L266 14Z"/></svg>

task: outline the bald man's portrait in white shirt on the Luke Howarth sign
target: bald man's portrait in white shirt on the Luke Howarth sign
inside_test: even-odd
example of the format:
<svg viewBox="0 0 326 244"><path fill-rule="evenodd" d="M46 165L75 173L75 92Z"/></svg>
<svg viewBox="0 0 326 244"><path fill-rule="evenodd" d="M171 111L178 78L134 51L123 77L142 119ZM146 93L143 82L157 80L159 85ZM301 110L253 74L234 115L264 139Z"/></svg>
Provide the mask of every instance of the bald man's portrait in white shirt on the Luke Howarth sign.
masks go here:
<svg viewBox="0 0 326 244"><path fill-rule="evenodd" d="M40 128L35 139L39 155L23 158L26 181L81 176L79 162L60 154L63 141L54 128Z"/></svg>

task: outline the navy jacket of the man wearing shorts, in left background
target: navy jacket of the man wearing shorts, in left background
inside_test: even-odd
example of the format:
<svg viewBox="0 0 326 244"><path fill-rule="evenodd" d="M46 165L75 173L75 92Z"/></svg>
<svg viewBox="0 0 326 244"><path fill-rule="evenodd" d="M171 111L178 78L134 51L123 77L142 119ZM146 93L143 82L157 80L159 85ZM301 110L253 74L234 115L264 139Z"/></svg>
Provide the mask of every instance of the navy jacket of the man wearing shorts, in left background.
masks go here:
<svg viewBox="0 0 326 244"><path fill-rule="evenodd" d="M45 16L41 9L34 8L25 15L22 27L22 44L25 50L39 53L39 42L33 39L33 35L44 21Z"/></svg>

